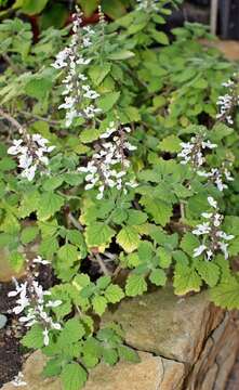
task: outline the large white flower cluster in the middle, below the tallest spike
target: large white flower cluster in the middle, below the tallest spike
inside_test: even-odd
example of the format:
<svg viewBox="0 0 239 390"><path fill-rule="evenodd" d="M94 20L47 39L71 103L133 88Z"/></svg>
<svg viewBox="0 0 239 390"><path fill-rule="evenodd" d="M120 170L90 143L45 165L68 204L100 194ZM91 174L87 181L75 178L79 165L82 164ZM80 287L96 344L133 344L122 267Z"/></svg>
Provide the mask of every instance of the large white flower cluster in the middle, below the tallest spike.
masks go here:
<svg viewBox="0 0 239 390"><path fill-rule="evenodd" d="M135 187L134 181L123 181L130 167L130 161L125 156L125 152L135 151L136 147L125 140L125 133L131 131L130 128L117 127L115 122L110 122L106 131L101 135L101 144L98 150L93 154L87 167L80 167L79 171L87 173L85 190L93 187L98 188L97 199L102 199L106 187L123 188ZM112 135L114 133L117 133ZM112 138L111 138L112 135ZM110 139L111 138L111 139ZM110 140L108 140L110 139Z"/></svg>

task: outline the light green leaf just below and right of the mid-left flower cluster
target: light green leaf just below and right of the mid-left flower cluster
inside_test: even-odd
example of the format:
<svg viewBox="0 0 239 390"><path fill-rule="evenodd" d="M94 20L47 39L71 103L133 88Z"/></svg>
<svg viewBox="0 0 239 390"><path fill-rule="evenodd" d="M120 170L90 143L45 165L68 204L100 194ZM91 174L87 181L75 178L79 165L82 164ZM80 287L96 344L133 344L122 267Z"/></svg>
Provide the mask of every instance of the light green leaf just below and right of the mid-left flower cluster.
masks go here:
<svg viewBox="0 0 239 390"><path fill-rule="evenodd" d="M41 195L38 205L38 218L45 221L53 217L64 205L64 197L53 192L48 192Z"/></svg>

